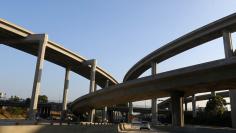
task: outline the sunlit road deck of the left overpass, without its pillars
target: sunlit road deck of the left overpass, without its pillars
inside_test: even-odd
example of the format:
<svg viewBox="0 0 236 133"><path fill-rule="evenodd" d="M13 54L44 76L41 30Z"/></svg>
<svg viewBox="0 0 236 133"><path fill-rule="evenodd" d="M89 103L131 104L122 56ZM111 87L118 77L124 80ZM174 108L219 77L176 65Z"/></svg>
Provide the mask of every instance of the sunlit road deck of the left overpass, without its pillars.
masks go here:
<svg viewBox="0 0 236 133"><path fill-rule="evenodd" d="M37 56L39 44L36 40L31 39L32 35L34 35L33 32L0 18L0 44ZM87 60L55 42L47 42L45 59L61 67L70 68L71 71L90 79L91 68L86 63ZM107 80L110 81L109 85L118 83L102 68L96 67L96 84L104 88Z"/></svg>

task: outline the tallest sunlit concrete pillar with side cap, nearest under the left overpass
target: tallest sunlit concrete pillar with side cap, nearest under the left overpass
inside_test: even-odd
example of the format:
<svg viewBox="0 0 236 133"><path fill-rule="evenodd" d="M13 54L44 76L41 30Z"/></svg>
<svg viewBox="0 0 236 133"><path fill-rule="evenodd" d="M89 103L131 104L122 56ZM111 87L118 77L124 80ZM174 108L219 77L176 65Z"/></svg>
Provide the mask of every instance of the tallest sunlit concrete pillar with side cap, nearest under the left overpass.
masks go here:
<svg viewBox="0 0 236 133"><path fill-rule="evenodd" d="M29 109L29 119L35 120L35 115L37 113L37 105L38 105L38 95L40 93L40 84L41 84L41 76L42 76L42 71L43 71L44 56L45 56L45 50L46 50L46 46L48 42L48 35L38 34L38 35L32 35L31 37L32 37L31 39L35 39L39 41L37 64L35 68L33 90L32 90L32 96L31 96L31 101L30 101L30 109Z"/></svg>

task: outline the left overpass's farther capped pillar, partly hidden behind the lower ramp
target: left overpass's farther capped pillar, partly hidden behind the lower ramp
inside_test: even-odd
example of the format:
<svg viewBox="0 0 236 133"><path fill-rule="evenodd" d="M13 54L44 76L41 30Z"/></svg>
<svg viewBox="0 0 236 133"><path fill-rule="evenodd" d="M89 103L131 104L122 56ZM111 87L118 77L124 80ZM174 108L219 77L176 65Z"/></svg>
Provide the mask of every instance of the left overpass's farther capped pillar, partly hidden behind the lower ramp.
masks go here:
<svg viewBox="0 0 236 133"><path fill-rule="evenodd" d="M93 93L95 91L95 76L96 76L96 66L97 66L97 61L95 59L90 60L90 65L91 65L91 71L90 71L90 88L89 92ZM89 112L89 121L94 122L94 115L95 115L95 109L91 109Z"/></svg>

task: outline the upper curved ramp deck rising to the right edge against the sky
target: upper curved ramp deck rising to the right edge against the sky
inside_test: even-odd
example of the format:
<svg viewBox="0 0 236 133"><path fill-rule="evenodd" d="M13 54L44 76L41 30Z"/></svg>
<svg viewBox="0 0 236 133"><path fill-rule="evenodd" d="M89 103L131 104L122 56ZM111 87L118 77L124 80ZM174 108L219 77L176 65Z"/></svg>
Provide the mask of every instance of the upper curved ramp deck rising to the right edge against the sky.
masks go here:
<svg viewBox="0 0 236 133"><path fill-rule="evenodd" d="M229 32L236 31L236 13L194 30L153 51L138 61L126 73L124 82L137 79L146 70L151 68L151 62L160 63L186 50L222 37L224 30Z"/></svg>

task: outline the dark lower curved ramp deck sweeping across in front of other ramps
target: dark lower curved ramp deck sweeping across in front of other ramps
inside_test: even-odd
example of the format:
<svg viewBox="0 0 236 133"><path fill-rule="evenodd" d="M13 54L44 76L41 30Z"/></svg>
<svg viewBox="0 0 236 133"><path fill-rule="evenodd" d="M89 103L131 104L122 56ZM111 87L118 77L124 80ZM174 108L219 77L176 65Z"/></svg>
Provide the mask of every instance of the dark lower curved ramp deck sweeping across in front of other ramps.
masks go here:
<svg viewBox="0 0 236 133"><path fill-rule="evenodd" d="M172 70L84 95L75 100L71 107L73 112L78 113L128 101L167 97L172 92L190 96L200 92L236 89L235 68L236 58L233 57Z"/></svg>

